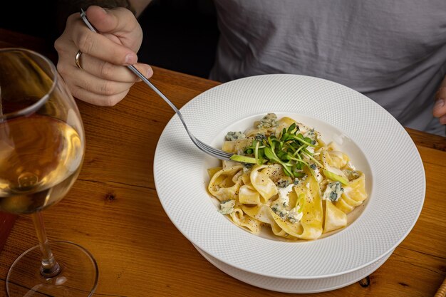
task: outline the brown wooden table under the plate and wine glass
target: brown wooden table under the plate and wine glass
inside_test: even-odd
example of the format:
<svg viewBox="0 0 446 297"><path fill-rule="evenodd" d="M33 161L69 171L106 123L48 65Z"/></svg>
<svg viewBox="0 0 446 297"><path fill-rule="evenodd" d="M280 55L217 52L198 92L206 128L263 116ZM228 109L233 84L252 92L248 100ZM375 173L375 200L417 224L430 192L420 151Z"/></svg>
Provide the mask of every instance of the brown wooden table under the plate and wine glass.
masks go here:
<svg viewBox="0 0 446 297"><path fill-rule="evenodd" d="M38 39L0 29L0 47L47 53ZM154 68L152 81L178 108L217 82ZM155 191L153 157L174 112L137 83L113 108L78 101L86 135L81 174L46 210L50 240L85 246L100 267L94 296L285 296L238 281L205 260L165 214ZM308 296L433 296L446 276L446 138L408 129L425 166L427 191L417 224L368 278ZM37 243L30 217L0 219L0 296L9 266ZM3 225L2 225L3 223ZM7 234L9 233L9 236ZM5 241L6 240L6 241Z"/></svg>

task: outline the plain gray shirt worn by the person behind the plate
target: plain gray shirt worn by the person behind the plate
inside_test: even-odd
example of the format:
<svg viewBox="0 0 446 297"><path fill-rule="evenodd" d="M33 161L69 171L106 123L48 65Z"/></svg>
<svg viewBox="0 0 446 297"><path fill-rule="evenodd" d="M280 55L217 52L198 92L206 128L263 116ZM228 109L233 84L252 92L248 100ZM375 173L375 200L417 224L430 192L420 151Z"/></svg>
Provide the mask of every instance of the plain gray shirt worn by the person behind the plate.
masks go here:
<svg viewBox="0 0 446 297"><path fill-rule="evenodd" d="M214 0L221 36L210 78L265 73L333 80L405 127L446 136L432 116L446 74L445 0Z"/></svg>

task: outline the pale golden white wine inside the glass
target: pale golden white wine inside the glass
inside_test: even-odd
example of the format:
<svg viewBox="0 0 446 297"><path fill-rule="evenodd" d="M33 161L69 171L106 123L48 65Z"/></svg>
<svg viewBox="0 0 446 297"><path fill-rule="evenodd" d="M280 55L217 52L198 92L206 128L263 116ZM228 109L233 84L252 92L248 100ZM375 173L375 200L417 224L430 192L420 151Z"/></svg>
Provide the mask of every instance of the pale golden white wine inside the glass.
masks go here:
<svg viewBox="0 0 446 297"><path fill-rule="evenodd" d="M83 151L78 132L56 118L0 123L0 210L26 214L61 200L78 177Z"/></svg>

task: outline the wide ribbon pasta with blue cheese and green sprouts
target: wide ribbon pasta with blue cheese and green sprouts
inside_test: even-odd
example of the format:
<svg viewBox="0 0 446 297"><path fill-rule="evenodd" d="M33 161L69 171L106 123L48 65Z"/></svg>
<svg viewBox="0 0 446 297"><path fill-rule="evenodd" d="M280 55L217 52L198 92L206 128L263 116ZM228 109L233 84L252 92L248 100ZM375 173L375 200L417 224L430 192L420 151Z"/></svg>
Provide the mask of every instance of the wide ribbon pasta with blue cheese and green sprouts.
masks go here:
<svg viewBox="0 0 446 297"><path fill-rule="evenodd" d="M268 113L244 132L228 132L234 161L208 169L219 212L253 234L268 228L291 240L318 239L345 227L363 204L365 175L334 142L288 117Z"/></svg>

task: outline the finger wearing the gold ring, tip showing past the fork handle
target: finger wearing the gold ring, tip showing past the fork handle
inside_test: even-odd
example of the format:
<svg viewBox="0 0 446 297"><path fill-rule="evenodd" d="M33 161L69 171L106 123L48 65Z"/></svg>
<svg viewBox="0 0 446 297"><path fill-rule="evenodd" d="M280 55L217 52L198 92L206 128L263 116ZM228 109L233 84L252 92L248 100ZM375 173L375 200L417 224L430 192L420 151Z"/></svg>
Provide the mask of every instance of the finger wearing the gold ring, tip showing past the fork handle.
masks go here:
<svg viewBox="0 0 446 297"><path fill-rule="evenodd" d="M125 66L102 61L86 53L83 53L81 56L81 66L85 72L105 80L115 80L123 83L135 83L140 81L140 78ZM150 78L153 74L152 68L147 64L136 63L134 66L140 73L142 73L142 75L145 75L146 78Z"/></svg>

